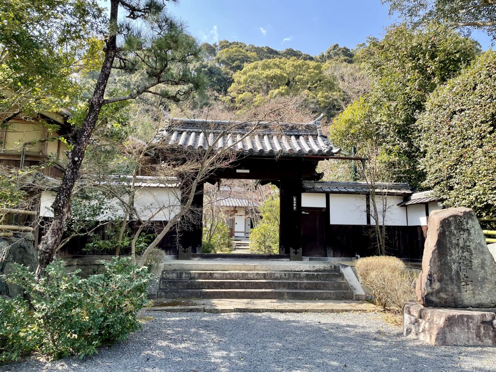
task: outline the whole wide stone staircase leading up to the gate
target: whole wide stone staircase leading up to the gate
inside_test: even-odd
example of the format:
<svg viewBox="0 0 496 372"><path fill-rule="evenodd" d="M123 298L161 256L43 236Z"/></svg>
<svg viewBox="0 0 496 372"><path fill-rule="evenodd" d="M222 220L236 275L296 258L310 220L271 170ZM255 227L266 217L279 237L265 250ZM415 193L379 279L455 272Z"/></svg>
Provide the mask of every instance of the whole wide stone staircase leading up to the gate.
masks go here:
<svg viewBox="0 0 496 372"><path fill-rule="evenodd" d="M167 264L160 299L353 300L339 265L191 263ZM287 262L287 261L286 261Z"/></svg>

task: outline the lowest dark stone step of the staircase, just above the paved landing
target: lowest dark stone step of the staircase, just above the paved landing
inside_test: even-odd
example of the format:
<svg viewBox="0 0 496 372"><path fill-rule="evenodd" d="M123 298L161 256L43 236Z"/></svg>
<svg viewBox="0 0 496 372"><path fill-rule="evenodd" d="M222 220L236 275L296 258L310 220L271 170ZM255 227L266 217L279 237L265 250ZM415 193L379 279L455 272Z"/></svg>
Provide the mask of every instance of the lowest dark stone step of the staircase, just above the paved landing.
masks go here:
<svg viewBox="0 0 496 372"><path fill-rule="evenodd" d="M276 300L353 300L353 292L343 290L298 289L159 289L159 298L166 299L276 299Z"/></svg>

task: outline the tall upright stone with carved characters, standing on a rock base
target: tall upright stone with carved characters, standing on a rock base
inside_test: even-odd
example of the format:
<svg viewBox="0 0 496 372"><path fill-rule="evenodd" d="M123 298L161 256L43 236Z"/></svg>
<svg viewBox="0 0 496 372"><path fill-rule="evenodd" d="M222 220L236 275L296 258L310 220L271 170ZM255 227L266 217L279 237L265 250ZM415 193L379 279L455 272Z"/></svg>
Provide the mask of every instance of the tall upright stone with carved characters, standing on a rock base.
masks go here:
<svg viewBox="0 0 496 372"><path fill-rule="evenodd" d="M417 300L429 307L496 308L496 261L471 209L430 215Z"/></svg>

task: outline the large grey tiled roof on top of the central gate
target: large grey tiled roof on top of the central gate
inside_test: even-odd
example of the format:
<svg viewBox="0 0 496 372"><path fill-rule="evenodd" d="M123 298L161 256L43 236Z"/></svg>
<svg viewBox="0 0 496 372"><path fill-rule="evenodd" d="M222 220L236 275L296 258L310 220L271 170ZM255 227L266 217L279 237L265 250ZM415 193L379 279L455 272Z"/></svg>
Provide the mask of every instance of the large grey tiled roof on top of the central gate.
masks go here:
<svg viewBox="0 0 496 372"><path fill-rule="evenodd" d="M240 154L259 156L335 155L341 150L332 147L318 121L290 124L172 118L154 142L190 150L214 144L215 151L229 147Z"/></svg>

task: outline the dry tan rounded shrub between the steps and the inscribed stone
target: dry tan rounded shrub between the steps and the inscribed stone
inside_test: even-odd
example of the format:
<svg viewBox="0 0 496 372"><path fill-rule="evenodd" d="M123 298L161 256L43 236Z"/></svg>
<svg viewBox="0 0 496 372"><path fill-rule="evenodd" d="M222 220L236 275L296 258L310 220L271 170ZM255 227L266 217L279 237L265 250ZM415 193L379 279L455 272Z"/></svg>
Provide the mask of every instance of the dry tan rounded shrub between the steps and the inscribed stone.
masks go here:
<svg viewBox="0 0 496 372"><path fill-rule="evenodd" d="M399 258L364 257L355 262L355 267L362 284L370 289L375 305L382 309L389 305L401 312L403 305L414 298L418 274Z"/></svg>

